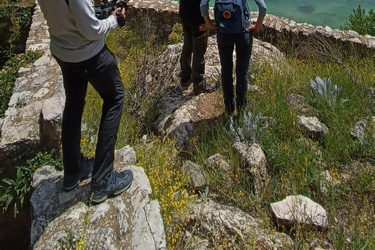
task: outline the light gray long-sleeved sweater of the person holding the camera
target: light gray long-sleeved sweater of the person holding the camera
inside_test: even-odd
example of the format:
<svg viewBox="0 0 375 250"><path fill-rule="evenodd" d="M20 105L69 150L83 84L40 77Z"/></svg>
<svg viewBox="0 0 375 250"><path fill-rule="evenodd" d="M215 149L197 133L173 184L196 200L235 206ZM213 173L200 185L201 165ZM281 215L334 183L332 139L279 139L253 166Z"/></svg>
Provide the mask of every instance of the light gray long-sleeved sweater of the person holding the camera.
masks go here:
<svg viewBox="0 0 375 250"><path fill-rule="evenodd" d="M38 0L49 27L52 55L63 62L82 62L104 46L103 39L118 27L117 19L95 17L91 0Z"/></svg>

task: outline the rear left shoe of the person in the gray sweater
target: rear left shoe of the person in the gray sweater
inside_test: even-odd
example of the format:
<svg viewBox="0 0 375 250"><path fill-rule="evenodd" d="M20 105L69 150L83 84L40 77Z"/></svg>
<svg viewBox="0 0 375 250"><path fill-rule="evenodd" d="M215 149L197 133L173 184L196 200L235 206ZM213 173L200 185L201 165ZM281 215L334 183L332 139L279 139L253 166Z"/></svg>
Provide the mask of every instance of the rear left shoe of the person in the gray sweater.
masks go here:
<svg viewBox="0 0 375 250"><path fill-rule="evenodd" d="M92 167L94 167L95 156L92 158L83 157L81 160L80 170L76 175L64 175L62 181L62 189L70 191L80 184L82 180L91 177Z"/></svg>

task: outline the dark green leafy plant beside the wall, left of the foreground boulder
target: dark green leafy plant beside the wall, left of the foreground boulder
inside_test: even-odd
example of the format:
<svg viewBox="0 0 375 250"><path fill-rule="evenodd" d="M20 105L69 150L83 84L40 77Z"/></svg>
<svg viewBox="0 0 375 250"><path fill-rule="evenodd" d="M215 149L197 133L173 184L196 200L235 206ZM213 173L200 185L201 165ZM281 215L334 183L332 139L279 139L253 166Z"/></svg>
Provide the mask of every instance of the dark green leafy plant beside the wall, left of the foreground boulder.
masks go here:
<svg viewBox="0 0 375 250"><path fill-rule="evenodd" d="M14 203L14 216L16 217L30 191L35 170L47 165L58 170L62 169L62 159L54 150L50 153L39 152L33 159L27 160L26 165L17 166L16 179L2 179L2 182L6 184L6 186L0 185L0 207L3 211L7 211L9 206Z"/></svg>

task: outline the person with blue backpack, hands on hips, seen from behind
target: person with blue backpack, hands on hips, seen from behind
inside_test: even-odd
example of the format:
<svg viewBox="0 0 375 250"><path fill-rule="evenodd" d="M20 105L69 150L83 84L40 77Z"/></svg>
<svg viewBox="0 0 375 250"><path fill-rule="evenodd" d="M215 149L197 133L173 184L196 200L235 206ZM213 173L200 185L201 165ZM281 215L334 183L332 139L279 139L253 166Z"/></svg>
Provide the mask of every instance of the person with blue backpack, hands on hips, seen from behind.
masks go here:
<svg viewBox="0 0 375 250"><path fill-rule="evenodd" d="M214 16L216 24L208 15L209 0L201 1L201 14L208 28L217 30L217 45L221 63L221 81L224 104L228 114L232 114L248 104L248 72L252 47L252 34L257 32L266 16L264 0L254 0L259 7L255 24L251 24L250 8L247 0L215 0ZM236 99L233 94L233 50L236 47Z"/></svg>

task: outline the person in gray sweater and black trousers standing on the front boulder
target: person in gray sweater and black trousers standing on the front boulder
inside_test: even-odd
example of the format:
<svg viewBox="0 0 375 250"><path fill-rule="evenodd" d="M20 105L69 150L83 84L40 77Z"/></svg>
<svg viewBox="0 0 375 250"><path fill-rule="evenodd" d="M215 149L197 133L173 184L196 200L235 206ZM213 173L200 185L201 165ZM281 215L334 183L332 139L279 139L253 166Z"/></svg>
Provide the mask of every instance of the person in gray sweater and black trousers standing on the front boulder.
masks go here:
<svg viewBox="0 0 375 250"><path fill-rule="evenodd" d="M38 0L47 21L50 51L59 63L65 89L62 115L63 189L77 187L91 175L92 201L127 189L133 180L131 170L113 169L117 132L124 105L124 85L117 61L104 38L125 20L125 8L117 8L107 19L95 17L91 0ZM81 119L88 82L103 99L95 157L81 153Z"/></svg>

